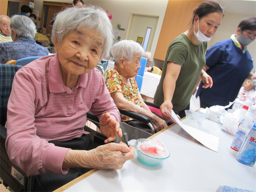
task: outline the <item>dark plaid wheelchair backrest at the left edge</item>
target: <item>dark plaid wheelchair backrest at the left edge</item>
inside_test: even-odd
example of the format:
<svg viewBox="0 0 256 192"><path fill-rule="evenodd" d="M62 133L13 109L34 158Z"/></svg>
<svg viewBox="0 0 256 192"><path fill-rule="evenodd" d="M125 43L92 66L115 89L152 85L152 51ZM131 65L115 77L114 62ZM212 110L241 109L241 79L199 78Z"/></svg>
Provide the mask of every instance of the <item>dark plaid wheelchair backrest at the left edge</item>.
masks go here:
<svg viewBox="0 0 256 192"><path fill-rule="evenodd" d="M7 103L12 90L15 73L22 68L20 65L0 64L0 124L5 126Z"/></svg>

